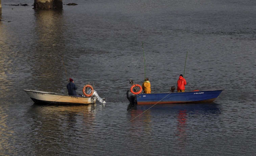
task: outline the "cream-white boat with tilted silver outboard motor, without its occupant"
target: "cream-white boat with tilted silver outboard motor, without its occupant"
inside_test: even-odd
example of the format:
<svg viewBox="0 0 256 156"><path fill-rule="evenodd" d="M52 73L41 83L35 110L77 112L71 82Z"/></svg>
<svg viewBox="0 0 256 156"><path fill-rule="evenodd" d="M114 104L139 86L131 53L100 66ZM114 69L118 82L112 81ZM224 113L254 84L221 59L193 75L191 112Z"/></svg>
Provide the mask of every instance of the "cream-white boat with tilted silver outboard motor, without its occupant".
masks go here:
<svg viewBox="0 0 256 156"><path fill-rule="evenodd" d="M75 104L75 105L87 105L96 102L96 99L101 103L106 103L105 99L100 98L97 92L94 90L90 97L87 96L70 96L62 93L44 92L36 90L26 90L27 95L35 103L48 103L48 104Z"/></svg>

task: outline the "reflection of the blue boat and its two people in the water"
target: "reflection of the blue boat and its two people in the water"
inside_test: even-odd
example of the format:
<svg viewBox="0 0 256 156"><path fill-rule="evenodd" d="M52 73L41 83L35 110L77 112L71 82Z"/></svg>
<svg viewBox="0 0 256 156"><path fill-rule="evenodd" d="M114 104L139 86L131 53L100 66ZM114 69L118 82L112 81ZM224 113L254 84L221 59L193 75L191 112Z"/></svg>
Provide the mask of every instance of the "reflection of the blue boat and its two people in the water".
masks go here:
<svg viewBox="0 0 256 156"><path fill-rule="evenodd" d="M207 127L209 122L219 116L219 105L209 103L176 103L134 105L129 104L127 112L130 117L127 122L130 124L131 135L134 139L143 135L147 139L166 135L161 142L177 148L181 154L186 151L187 141L191 135L197 135L199 127ZM159 125L160 124L160 125ZM160 136L159 136L160 137ZM173 142L176 140L176 142ZM163 145L164 146L164 145Z"/></svg>

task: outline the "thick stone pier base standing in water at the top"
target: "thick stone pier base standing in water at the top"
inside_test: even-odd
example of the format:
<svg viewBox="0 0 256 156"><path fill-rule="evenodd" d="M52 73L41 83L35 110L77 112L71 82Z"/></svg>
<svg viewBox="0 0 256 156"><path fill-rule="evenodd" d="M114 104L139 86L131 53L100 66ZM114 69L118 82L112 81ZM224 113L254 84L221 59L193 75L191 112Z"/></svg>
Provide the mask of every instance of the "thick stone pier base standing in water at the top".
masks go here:
<svg viewBox="0 0 256 156"><path fill-rule="evenodd" d="M62 0L34 0L34 9L61 9L62 7Z"/></svg>

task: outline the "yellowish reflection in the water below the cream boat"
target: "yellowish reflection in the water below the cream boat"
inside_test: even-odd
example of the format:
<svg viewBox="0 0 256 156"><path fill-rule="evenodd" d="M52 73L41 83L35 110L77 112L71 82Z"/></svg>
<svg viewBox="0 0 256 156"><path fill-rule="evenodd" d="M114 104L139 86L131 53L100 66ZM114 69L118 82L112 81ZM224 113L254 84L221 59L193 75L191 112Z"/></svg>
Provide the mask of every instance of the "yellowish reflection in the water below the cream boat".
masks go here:
<svg viewBox="0 0 256 156"><path fill-rule="evenodd" d="M62 138L70 128L76 125L84 125L88 130L93 131L96 116L96 104L89 105L31 105L27 115L30 117L30 124L36 133L53 133L53 136ZM57 136L58 135L58 136Z"/></svg>

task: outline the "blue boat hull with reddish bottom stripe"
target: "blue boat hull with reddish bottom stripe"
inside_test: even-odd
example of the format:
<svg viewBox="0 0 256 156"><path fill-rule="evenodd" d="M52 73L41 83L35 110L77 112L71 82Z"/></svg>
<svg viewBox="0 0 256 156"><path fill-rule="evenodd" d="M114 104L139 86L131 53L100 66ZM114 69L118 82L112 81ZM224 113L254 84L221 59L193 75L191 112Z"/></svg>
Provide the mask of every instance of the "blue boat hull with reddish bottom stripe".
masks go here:
<svg viewBox="0 0 256 156"><path fill-rule="evenodd" d="M212 102L223 90L137 94L137 104Z"/></svg>

